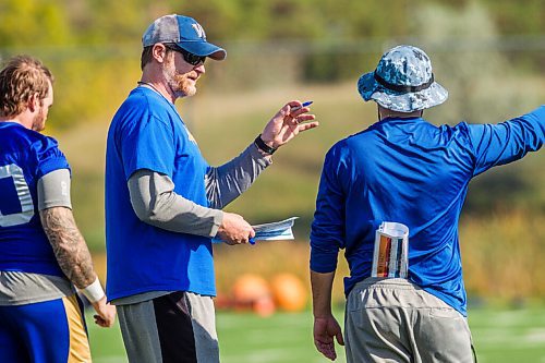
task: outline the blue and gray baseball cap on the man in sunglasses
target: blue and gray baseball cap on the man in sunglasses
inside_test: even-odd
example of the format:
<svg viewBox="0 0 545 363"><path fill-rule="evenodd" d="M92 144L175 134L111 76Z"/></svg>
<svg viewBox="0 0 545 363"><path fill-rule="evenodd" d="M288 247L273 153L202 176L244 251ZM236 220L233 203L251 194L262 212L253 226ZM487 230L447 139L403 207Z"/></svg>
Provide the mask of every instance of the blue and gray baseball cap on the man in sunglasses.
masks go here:
<svg viewBox="0 0 545 363"><path fill-rule="evenodd" d="M170 14L156 20L142 36L144 47L157 43L174 43L190 53L223 60L227 51L206 40L204 28L194 19Z"/></svg>

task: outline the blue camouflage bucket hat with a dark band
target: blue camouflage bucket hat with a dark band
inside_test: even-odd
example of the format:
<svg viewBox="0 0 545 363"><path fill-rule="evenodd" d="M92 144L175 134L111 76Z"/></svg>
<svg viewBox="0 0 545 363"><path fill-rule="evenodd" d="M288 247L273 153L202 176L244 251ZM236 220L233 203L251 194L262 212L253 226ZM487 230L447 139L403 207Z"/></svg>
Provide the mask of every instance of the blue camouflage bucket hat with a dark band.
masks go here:
<svg viewBox="0 0 545 363"><path fill-rule="evenodd" d="M360 95L368 101L399 112L423 110L443 104L448 92L434 81L432 62L422 50L397 46L378 62L374 72L358 81Z"/></svg>

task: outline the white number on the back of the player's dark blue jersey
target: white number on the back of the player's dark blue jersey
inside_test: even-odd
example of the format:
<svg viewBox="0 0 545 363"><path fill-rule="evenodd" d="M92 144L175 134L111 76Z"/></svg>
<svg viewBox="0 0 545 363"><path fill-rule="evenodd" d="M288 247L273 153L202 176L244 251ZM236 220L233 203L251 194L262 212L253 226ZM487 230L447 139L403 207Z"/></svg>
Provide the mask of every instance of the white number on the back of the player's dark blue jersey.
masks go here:
<svg viewBox="0 0 545 363"><path fill-rule="evenodd" d="M11 178L15 191L17 192L19 202L21 203L21 211L11 215L2 215L0 210L0 227L11 227L27 223L34 216L34 203L26 184L23 169L14 164L0 167L0 179Z"/></svg>

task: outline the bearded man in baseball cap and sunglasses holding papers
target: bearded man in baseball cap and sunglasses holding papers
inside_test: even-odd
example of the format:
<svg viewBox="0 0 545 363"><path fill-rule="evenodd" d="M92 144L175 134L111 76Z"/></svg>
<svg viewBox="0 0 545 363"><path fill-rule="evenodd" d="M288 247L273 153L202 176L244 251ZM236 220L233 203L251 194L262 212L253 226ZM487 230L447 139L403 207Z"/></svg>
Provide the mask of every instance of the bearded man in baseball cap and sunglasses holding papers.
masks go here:
<svg viewBox="0 0 545 363"><path fill-rule="evenodd" d="M108 297L131 362L219 362L211 238L241 244L255 235L242 216L220 209L278 147L318 124L290 101L240 156L210 167L174 101L193 96L205 60L226 51L195 20L175 14L156 20L143 47L142 80L107 141Z"/></svg>

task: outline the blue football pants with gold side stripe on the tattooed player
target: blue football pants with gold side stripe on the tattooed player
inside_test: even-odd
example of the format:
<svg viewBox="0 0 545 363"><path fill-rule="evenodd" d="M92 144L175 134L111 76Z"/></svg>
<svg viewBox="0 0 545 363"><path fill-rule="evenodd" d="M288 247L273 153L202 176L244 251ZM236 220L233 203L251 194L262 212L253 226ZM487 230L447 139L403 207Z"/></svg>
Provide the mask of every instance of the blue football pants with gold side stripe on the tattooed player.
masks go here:
<svg viewBox="0 0 545 363"><path fill-rule="evenodd" d="M90 362L82 312L76 295L0 306L0 362Z"/></svg>

